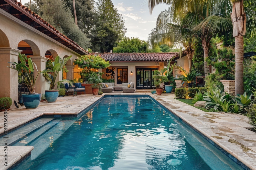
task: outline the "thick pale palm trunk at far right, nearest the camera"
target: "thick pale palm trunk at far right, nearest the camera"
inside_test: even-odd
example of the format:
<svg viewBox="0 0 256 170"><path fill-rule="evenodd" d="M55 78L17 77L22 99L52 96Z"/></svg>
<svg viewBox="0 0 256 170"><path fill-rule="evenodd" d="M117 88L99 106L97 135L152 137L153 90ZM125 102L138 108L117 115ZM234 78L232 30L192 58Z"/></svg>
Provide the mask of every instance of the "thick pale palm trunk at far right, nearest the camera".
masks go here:
<svg viewBox="0 0 256 170"><path fill-rule="evenodd" d="M246 32L246 15L244 13L243 0L231 0L233 2L232 23L233 36L235 37L236 74L235 95L243 94L243 36Z"/></svg>

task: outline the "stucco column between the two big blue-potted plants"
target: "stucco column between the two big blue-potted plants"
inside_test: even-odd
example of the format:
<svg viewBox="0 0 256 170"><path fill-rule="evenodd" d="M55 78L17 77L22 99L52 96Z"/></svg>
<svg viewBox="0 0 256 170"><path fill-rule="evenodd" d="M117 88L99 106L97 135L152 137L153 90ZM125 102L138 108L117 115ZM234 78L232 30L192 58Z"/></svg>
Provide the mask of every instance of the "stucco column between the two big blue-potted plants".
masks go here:
<svg viewBox="0 0 256 170"><path fill-rule="evenodd" d="M34 76L36 77L39 71L45 70L45 63L48 58L42 56L31 56L29 58L31 58L37 66L37 70L34 69ZM45 90L45 77L43 76L43 74L40 74L38 75L36 80L36 93L44 94Z"/></svg>

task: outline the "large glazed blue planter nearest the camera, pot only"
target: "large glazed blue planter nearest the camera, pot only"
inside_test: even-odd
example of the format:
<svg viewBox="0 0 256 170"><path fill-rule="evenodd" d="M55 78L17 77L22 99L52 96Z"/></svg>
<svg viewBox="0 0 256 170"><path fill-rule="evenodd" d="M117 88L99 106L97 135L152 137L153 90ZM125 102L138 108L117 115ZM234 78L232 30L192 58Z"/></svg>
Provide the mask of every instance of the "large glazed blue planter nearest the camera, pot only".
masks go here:
<svg viewBox="0 0 256 170"><path fill-rule="evenodd" d="M41 100L41 94L22 94L22 101L26 109L35 109L38 107Z"/></svg>

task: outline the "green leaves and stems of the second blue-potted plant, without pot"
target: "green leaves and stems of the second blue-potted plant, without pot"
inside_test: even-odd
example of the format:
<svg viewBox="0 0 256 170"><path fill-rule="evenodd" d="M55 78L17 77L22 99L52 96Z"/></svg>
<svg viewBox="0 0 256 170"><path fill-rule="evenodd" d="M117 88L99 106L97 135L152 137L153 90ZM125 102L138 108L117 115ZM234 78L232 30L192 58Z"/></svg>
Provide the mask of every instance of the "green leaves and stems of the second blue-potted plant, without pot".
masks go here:
<svg viewBox="0 0 256 170"><path fill-rule="evenodd" d="M50 89L54 89L55 85L58 83L56 82L56 79L58 77L58 73L62 70L63 66L67 63L67 61L72 56L66 57L63 60L60 58L60 56L57 56L55 61L52 62L53 68L51 70L43 70L40 73L44 73L44 76L48 81L50 81ZM53 72L54 75L48 74L49 72ZM55 83L56 82L56 83Z"/></svg>

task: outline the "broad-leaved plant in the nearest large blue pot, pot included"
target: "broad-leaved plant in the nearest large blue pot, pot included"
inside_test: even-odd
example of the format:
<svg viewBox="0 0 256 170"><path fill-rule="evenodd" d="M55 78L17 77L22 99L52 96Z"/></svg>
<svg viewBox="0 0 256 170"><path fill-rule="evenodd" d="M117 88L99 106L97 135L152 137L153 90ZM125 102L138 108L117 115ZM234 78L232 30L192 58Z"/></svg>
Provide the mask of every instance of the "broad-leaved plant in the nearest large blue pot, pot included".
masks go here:
<svg viewBox="0 0 256 170"><path fill-rule="evenodd" d="M11 69L17 70L19 73L21 73L24 77L24 82L27 85L27 88L29 90L28 94L22 94L22 100L23 104L26 107L26 109L35 109L38 107L41 99L41 94L35 93L36 89L36 80L37 76L42 72L38 72L37 76L34 76L34 66L37 70L36 64L31 60L31 58L28 58L28 66L26 66L26 60L24 56L22 56L19 53L19 59L21 63L16 62L8 62L13 64L12 67L9 67ZM16 66L16 67L15 67ZM8 66L7 66L8 67Z"/></svg>

